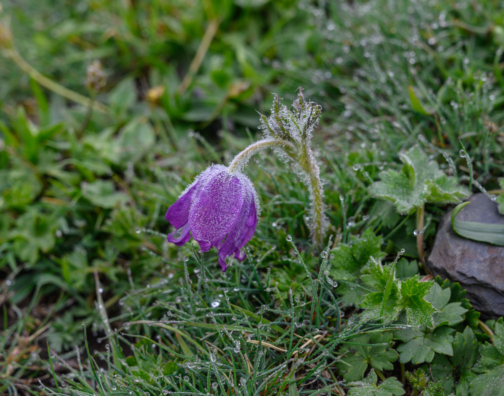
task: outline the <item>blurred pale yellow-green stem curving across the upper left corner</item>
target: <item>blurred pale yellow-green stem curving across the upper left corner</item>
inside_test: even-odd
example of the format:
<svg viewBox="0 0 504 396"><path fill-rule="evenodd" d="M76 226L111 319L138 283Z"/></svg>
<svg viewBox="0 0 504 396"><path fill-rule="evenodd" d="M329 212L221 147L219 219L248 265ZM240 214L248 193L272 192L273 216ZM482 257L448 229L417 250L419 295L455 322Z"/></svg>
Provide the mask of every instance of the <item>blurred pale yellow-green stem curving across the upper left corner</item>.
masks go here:
<svg viewBox="0 0 504 396"><path fill-rule="evenodd" d="M83 106L90 106L93 109L100 111L102 113L108 112L108 107L105 106L104 104L99 103L97 101L93 101L87 96L72 91L62 85L59 85L58 83L52 81L51 79L45 77L42 73L36 70L28 62L26 62L16 49L5 48L3 50L3 54L8 56L8 58L10 58L11 60L13 60L14 63L16 63L16 65L18 65L21 70L23 70L26 74L28 74L31 78L33 78L36 82L38 82L45 88L57 93L58 95L66 97L67 99L80 103Z"/></svg>

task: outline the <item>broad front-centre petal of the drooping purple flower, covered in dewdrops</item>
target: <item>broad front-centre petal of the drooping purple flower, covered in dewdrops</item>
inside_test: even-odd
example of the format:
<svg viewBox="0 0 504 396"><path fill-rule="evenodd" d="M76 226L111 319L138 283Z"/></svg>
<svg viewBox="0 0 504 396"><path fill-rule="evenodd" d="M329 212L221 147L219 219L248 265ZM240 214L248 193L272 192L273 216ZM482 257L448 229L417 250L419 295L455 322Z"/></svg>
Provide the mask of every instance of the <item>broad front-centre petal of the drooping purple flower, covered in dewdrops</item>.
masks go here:
<svg viewBox="0 0 504 396"><path fill-rule="evenodd" d="M188 221L193 238L206 251L209 244L222 241L236 222L243 205L244 188L241 179L230 174L224 165L212 165L199 181Z"/></svg>

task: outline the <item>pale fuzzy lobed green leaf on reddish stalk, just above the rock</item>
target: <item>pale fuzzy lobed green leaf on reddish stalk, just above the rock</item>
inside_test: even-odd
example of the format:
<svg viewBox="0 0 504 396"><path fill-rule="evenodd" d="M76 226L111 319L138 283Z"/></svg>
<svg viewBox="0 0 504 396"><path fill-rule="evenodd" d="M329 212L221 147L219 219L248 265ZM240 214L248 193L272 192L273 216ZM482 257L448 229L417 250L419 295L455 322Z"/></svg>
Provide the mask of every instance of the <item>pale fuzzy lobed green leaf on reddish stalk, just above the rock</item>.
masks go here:
<svg viewBox="0 0 504 396"><path fill-rule="evenodd" d="M446 176L419 147L399 153L399 158L404 163L401 172L382 171L381 181L369 186L375 197L392 200L399 213L410 213L425 202L454 203L469 195L467 188Z"/></svg>

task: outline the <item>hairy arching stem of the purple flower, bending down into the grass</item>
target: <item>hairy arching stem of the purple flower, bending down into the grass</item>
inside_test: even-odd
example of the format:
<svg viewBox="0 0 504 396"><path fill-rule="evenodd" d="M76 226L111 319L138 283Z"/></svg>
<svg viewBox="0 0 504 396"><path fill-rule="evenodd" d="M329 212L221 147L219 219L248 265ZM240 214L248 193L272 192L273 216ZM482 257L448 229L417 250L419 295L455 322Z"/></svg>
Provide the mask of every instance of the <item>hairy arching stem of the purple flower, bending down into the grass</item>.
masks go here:
<svg viewBox="0 0 504 396"><path fill-rule="evenodd" d="M303 146L300 150L290 142L283 139L264 139L251 144L243 151L238 153L229 163L229 171L236 172L242 169L251 156L266 148L281 148L287 153L294 163L299 165L301 171L307 175L306 183L310 190L310 198L312 205L312 216L310 224L307 224L311 231L311 239L314 245L321 247L324 242L324 234L326 231L325 216L324 216L324 188L320 180L320 168L315 161L311 149Z"/></svg>

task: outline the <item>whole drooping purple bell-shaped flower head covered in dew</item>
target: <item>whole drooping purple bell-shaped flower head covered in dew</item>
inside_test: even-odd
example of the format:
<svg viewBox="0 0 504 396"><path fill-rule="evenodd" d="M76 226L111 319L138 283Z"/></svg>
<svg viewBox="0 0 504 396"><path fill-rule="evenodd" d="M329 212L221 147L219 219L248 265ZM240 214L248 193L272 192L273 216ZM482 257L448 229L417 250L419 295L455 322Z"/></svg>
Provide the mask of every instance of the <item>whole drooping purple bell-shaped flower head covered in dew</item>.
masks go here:
<svg viewBox="0 0 504 396"><path fill-rule="evenodd" d="M245 258L240 249L254 235L258 217L259 201L250 180L227 166L212 165L166 211L165 218L176 229L168 241L182 246L192 234L202 252L217 247L225 271L227 257Z"/></svg>

